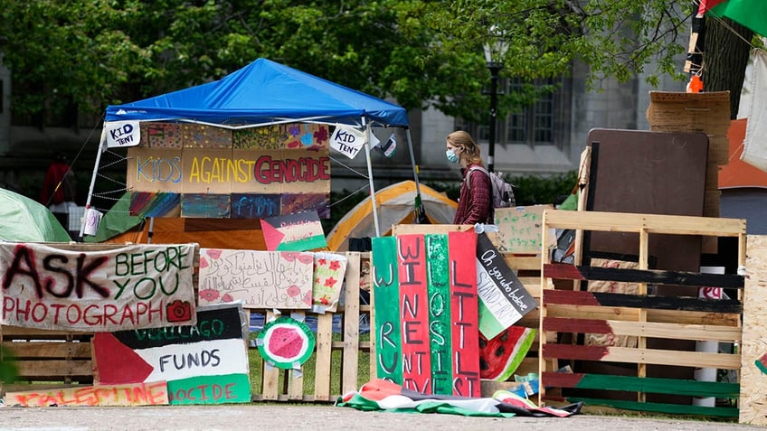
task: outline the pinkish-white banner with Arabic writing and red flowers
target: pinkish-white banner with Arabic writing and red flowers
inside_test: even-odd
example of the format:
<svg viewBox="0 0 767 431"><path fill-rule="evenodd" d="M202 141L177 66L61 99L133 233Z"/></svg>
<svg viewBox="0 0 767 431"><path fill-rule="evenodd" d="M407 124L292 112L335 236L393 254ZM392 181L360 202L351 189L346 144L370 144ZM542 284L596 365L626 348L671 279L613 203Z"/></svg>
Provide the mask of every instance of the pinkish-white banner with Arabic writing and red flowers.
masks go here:
<svg viewBox="0 0 767 431"><path fill-rule="evenodd" d="M312 253L201 248L200 305L309 309L313 269Z"/></svg>

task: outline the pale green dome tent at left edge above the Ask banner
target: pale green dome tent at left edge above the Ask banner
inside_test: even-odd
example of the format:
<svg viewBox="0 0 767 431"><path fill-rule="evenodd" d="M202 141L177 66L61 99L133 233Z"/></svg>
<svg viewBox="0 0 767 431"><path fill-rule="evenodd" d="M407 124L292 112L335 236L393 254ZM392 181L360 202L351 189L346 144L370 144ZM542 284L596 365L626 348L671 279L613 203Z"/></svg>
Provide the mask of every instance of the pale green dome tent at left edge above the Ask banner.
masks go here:
<svg viewBox="0 0 767 431"><path fill-rule="evenodd" d="M70 234L42 203L0 189L0 239L15 242L69 242Z"/></svg>

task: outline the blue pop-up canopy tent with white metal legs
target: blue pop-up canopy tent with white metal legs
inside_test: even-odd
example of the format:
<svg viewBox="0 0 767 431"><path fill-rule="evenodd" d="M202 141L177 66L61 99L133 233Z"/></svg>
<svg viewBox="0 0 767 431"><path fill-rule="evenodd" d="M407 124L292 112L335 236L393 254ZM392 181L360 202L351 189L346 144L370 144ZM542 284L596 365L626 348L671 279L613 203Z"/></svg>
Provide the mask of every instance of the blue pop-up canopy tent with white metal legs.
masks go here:
<svg viewBox="0 0 767 431"><path fill-rule="evenodd" d="M422 210L419 208L421 192L405 109L275 61L258 59L221 80L124 105L110 105L106 111L105 130L109 122L127 120L189 122L230 129L293 122L357 126L368 131L371 126L402 127L407 134L418 190L415 205ZM99 156L105 145L106 139L102 136L88 206ZM365 145L365 157L370 192L374 195L370 145ZM380 235L377 215L374 223L376 235Z"/></svg>

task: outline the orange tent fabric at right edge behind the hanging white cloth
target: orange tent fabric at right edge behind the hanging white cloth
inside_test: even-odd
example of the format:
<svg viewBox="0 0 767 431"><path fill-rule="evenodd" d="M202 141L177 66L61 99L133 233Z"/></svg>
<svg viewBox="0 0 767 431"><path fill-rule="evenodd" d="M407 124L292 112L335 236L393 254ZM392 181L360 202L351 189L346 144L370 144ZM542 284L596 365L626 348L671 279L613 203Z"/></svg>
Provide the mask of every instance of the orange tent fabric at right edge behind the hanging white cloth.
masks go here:
<svg viewBox="0 0 767 431"><path fill-rule="evenodd" d="M767 172L753 167L741 160L743 140L748 118L736 119L730 123L727 138L730 140L730 159L728 164L719 167L719 188L765 187Z"/></svg>

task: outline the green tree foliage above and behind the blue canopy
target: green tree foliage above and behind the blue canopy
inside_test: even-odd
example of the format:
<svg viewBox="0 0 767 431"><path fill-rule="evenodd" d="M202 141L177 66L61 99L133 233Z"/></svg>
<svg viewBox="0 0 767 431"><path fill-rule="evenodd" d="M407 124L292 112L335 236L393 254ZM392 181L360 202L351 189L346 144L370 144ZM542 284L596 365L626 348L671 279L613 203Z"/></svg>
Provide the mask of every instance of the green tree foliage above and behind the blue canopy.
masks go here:
<svg viewBox="0 0 767 431"><path fill-rule="evenodd" d="M684 8L682 7L684 5ZM431 105L478 120L487 103L482 44L504 34L502 74L568 74L574 60L628 80L685 47L689 2L633 0L0 0L0 51L12 70L15 114L72 106L100 113L216 80L270 58L404 108ZM651 74L650 82L657 81ZM507 94L498 113L530 102Z"/></svg>

